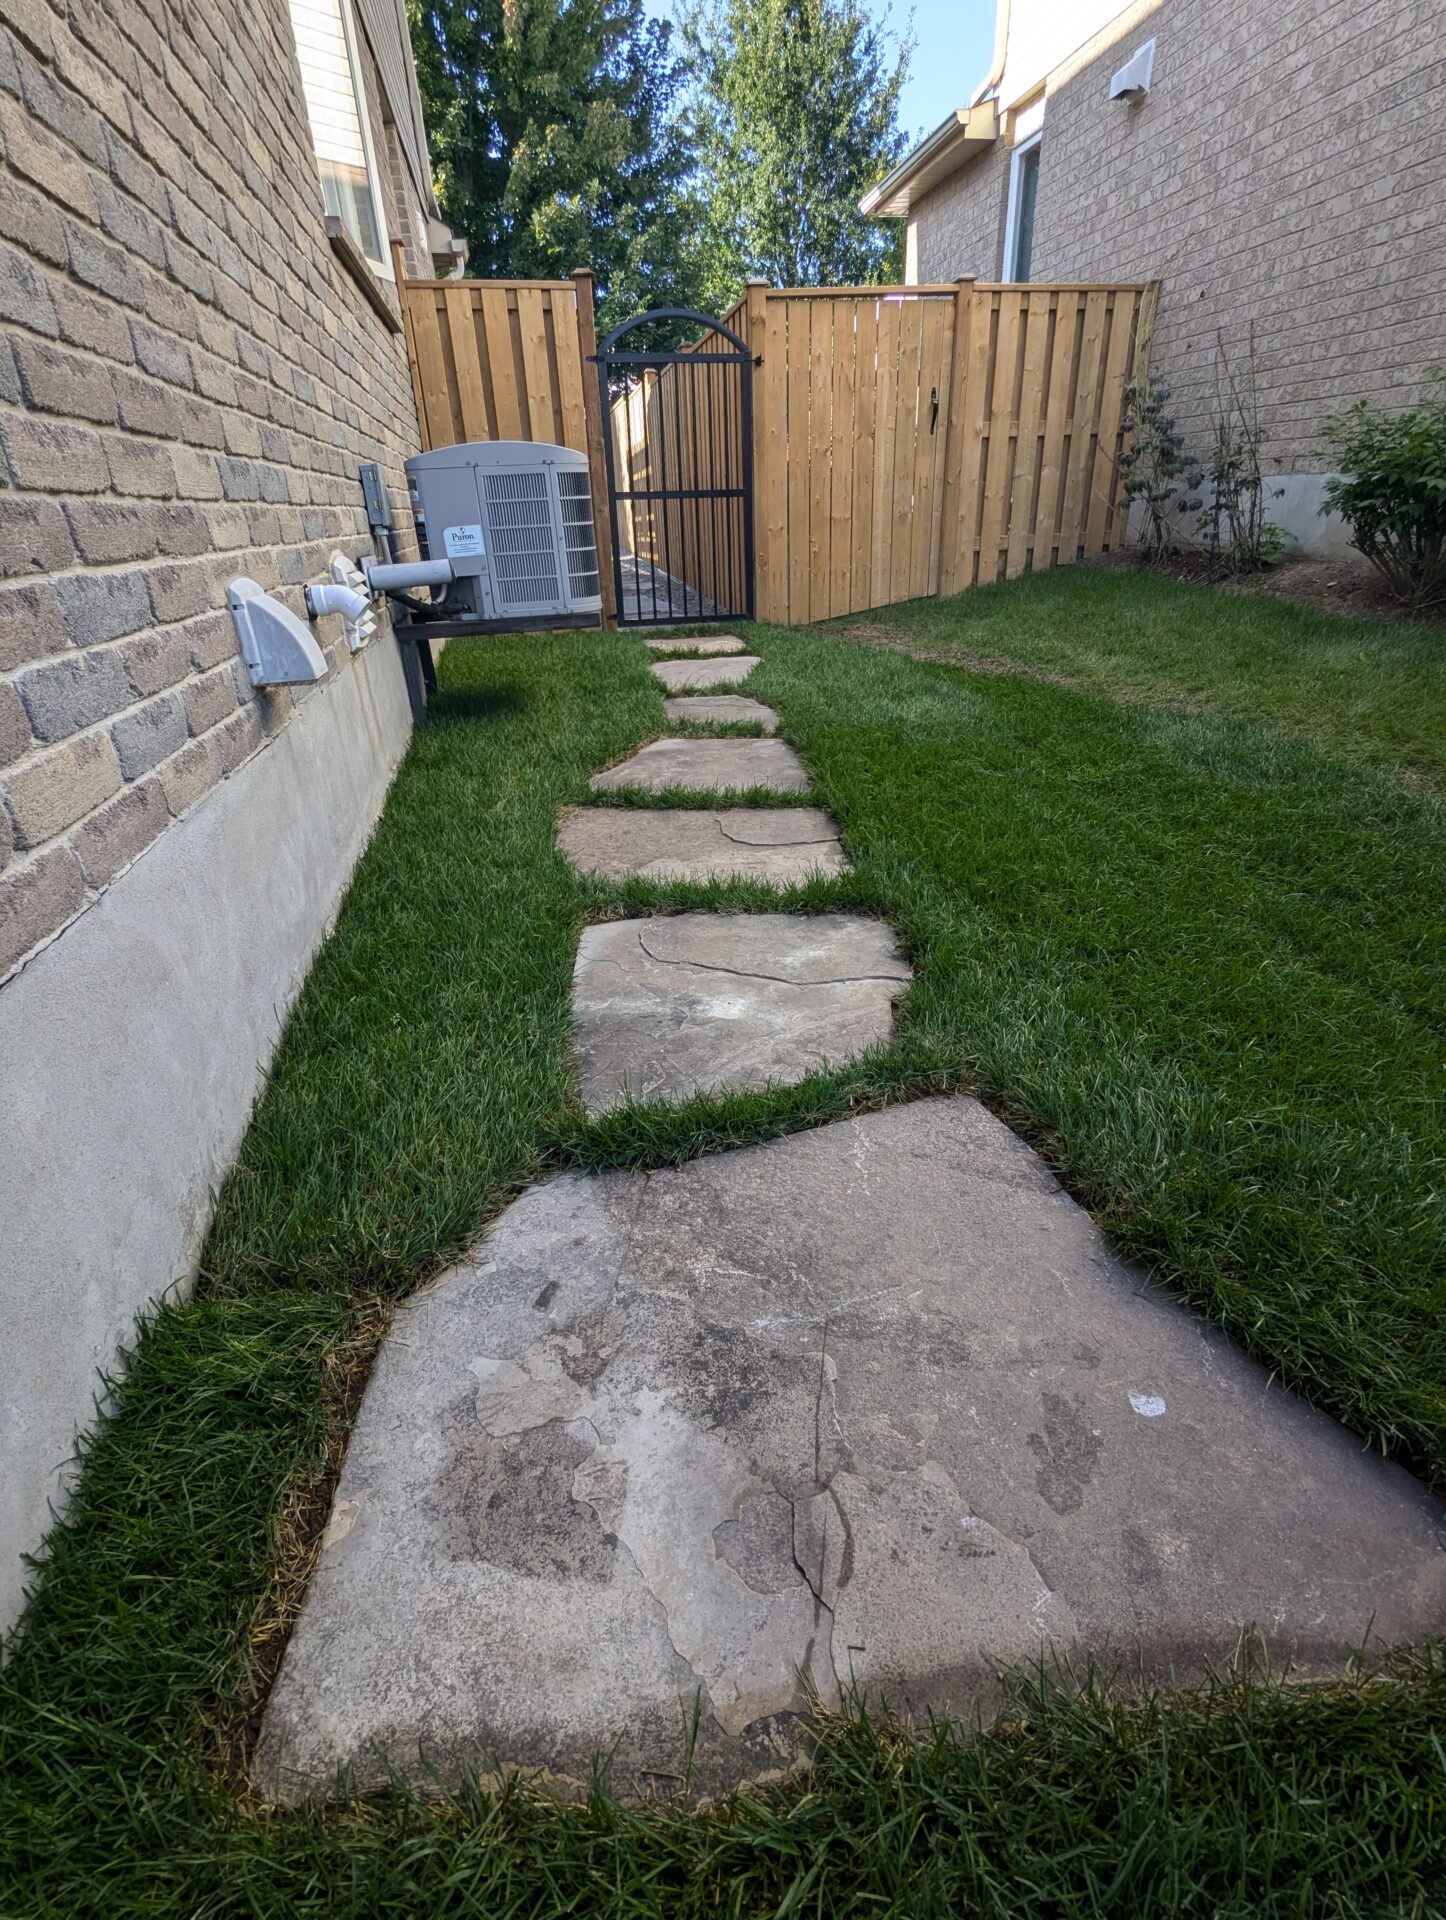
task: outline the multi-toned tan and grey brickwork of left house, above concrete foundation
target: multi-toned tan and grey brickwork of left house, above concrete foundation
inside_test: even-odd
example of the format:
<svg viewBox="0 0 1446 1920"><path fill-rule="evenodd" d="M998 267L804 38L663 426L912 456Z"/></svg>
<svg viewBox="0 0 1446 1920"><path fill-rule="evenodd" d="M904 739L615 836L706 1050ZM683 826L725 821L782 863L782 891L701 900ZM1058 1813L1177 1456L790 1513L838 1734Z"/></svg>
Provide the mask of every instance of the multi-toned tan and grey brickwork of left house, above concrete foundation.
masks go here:
<svg viewBox="0 0 1446 1920"><path fill-rule="evenodd" d="M286 0L4 15L0 977L288 724L227 580L300 612L371 547L359 465L405 505L417 449L401 336L326 244Z"/></svg>

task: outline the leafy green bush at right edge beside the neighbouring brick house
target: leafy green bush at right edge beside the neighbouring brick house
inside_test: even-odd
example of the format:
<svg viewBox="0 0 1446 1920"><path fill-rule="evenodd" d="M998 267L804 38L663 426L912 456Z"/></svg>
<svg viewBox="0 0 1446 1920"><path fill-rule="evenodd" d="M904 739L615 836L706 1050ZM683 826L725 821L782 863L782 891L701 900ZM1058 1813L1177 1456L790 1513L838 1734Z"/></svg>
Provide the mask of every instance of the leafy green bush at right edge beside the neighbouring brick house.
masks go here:
<svg viewBox="0 0 1446 1920"><path fill-rule="evenodd" d="M1410 413L1362 399L1321 428L1340 467L1321 513L1350 524L1352 545L1408 607L1446 599L1446 367L1431 382Z"/></svg>

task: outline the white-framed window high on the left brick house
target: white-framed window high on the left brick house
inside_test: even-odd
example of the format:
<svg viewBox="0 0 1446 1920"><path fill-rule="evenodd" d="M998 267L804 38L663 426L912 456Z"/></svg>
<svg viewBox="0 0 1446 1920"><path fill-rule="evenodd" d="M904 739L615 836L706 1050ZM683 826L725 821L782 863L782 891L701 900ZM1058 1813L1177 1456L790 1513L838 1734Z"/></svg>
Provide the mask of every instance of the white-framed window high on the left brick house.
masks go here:
<svg viewBox="0 0 1446 1920"><path fill-rule="evenodd" d="M326 211L340 219L371 267L390 280L386 217L361 90L351 0L292 0L292 31Z"/></svg>

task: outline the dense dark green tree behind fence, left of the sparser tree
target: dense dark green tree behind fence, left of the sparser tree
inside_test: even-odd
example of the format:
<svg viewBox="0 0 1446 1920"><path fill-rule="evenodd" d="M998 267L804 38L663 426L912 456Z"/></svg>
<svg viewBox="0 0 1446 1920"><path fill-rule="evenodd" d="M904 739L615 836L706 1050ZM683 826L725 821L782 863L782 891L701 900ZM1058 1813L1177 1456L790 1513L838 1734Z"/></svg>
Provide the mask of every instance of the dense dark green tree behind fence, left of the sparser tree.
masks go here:
<svg viewBox="0 0 1446 1920"><path fill-rule="evenodd" d="M438 200L478 278L597 276L599 326L697 298L672 29L643 0L407 0Z"/></svg>

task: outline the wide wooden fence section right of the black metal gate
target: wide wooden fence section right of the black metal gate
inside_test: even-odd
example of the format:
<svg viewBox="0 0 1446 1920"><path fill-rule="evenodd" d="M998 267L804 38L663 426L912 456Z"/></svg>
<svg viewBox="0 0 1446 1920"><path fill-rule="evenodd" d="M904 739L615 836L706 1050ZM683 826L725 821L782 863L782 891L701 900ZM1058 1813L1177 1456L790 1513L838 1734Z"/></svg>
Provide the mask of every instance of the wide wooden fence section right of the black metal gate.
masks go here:
<svg viewBox="0 0 1446 1920"><path fill-rule="evenodd" d="M1102 553L1146 288L749 288L759 618Z"/></svg>

